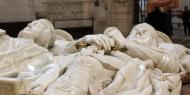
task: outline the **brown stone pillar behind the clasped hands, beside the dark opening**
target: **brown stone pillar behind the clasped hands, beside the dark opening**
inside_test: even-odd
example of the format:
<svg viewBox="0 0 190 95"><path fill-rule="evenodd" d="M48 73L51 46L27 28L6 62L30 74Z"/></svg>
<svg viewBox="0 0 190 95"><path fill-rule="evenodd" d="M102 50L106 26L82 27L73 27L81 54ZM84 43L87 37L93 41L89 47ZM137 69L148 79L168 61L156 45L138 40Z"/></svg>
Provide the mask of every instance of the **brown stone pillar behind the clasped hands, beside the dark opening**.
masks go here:
<svg viewBox="0 0 190 95"><path fill-rule="evenodd" d="M127 36L133 25L133 0L100 0L96 10L95 33L102 33L105 27L115 26ZM101 12L100 12L101 10ZM103 11L105 10L105 11ZM99 16L99 17L97 17Z"/></svg>

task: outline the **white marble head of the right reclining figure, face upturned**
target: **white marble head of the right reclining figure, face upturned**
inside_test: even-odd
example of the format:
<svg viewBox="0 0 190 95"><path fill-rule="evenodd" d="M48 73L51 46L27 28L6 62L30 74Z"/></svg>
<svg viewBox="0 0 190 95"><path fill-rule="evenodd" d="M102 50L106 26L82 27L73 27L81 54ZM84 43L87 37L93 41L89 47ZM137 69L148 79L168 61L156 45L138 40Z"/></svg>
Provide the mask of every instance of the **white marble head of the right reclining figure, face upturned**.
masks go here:
<svg viewBox="0 0 190 95"><path fill-rule="evenodd" d="M127 40L130 40L130 41L133 41L145 46L152 46L152 45L154 46L158 44L156 35L157 33L152 26L146 23L143 23L143 24L136 25L132 29L130 35L127 37Z"/></svg>

